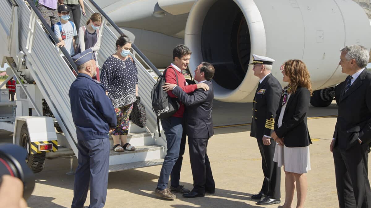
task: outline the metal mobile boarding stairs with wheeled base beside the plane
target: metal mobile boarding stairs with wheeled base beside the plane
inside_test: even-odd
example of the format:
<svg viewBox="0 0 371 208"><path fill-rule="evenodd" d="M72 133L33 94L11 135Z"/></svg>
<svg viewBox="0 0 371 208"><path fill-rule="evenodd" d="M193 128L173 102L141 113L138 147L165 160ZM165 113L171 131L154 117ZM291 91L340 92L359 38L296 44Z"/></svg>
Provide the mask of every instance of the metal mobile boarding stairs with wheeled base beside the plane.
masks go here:
<svg viewBox="0 0 371 208"><path fill-rule="evenodd" d="M98 63L103 64L115 53L115 42L122 31L93 0L83 2L86 16L81 16L81 25L85 25L94 12L103 17L98 53ZM68 96L76 78L71 68L75 71L77 68L66 49L56 47L59 40L33 0L0 1L0 41L3 43L1 66L7 63L9 77L15 76L19 81L16 101L8 100L7 89L0 91L0 129L14 132L13 142L26 148L26 162L34 172L42 171L46 159L78 157ZM128 142L135 145L136 150L115 152L111 149L109 172L160 165L166 152L166 140L158 136L157 118L151 107L150 92L155 79L148 71L158 76L160 72L134 44L131 55L138 68L138 94L145 105L147 125L140 128L129 124ZM110 140L112 147L112 138Z"/></svg>

